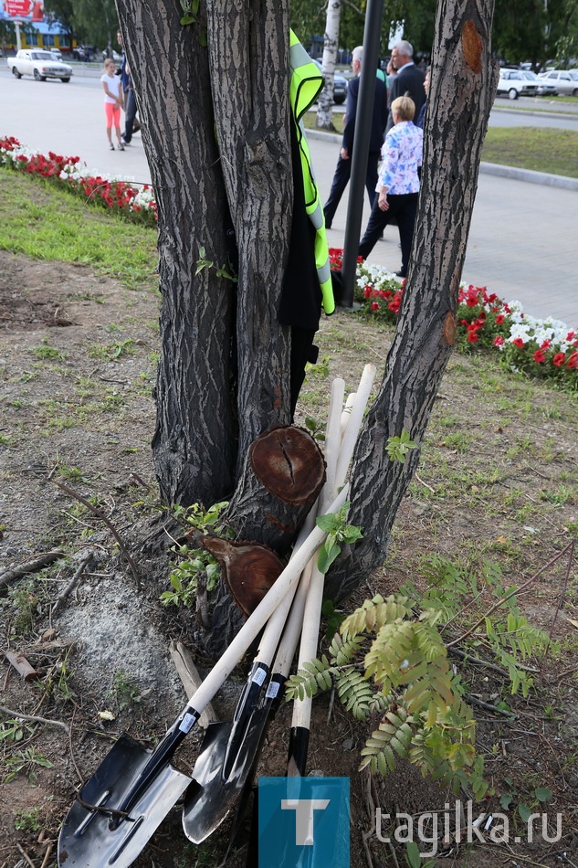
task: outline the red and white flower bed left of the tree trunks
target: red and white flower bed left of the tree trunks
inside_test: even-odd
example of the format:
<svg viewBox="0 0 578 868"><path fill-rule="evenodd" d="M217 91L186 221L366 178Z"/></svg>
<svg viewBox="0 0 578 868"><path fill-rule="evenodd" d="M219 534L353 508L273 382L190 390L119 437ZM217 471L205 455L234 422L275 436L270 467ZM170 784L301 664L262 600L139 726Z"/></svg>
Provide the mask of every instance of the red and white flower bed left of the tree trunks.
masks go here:
<svg viewBox="0 0 578 868"><path fill-rule="evenodd" d="M29 175L41 175L89 202L112 208L124 217L154 225L156 202L150 184L94 175L80 157L48 152L44 156L21 145L12 136L0 138L0 165Z"/></svg>

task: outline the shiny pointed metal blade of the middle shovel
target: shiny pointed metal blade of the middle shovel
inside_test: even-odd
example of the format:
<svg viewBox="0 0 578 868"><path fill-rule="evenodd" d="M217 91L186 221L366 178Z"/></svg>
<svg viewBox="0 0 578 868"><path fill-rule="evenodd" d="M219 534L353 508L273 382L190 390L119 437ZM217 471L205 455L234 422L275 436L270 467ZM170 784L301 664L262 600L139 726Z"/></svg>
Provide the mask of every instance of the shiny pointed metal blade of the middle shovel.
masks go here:
<svg viewBox="0 0 578 868"><path fill-rule="evenodd" d="M269 711L267 703L251 715L227 778L223 777L223 764L232 724L211 724L207 728L194 765L194 781L184 799L184 833L195 844L204 842L235 807L255 766Z"/></svg>

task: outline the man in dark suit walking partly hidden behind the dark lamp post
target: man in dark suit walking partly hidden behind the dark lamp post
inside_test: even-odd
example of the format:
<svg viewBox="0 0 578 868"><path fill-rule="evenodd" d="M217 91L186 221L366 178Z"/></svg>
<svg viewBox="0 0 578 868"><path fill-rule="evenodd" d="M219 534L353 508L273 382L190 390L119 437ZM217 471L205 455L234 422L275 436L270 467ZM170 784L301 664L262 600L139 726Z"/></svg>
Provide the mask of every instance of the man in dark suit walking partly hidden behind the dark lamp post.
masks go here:
<svg viewBox="0 0 578 868"><path fill-rule="evenodd" d="M347 104L345 107L345 125L343 127L342 149L335 168L335 175L331 183L331 190L327 202L323 206L325 215L325 227L331 229L331 223L337 206L343 195L345 187L349 183L352 174L353 135L355 132L355 118L357 115L357 100L359 96L360 73L362 71L363 47L353 48L352 69L355 78L349 83L347 89ZM369 140L369 155L367 157L367 170L365 174L365 187L369 196L370 207L375 198L377 186L377 164L379 162L382 144L384 143L385 123L387 122L387 88L384 82L375 79L375 95L373 97L372 131Z"/></svg>

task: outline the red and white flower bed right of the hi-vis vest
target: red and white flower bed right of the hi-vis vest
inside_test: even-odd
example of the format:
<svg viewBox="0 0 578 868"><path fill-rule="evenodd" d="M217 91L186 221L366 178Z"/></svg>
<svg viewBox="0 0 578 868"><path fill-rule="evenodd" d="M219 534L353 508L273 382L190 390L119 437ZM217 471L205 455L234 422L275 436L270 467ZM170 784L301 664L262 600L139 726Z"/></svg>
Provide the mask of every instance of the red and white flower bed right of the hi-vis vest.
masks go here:
<svg viewBox="0 0 578 868"><path fill-rule="evenodd" d="M340 269L342 250L330 249L332 269ZM355 300L374 319L394 324L405 291L382 266L361 261L357 266ZM510 370L555 380L578 389L578 331L548 317L524 313L520 302L503 302L486 287L462 283L457 297L457 348L480 347L499 353Z"/></svg>

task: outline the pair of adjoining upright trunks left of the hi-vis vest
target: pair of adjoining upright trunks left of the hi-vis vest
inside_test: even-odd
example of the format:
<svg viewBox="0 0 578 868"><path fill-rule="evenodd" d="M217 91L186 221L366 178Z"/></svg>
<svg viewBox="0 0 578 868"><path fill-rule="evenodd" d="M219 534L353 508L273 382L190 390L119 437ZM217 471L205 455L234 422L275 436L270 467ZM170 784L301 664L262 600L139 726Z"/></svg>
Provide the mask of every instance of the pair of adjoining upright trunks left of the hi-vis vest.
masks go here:
<svg viewBox="0 0 578 868"><path fill-rule="evenodd" d="M208 505L257 435L289 422L288 3L209 0L188 26L173 0L118 9L159 206L155 467L167 502ZM237 285L217 273L235 239Z"/></svg>

